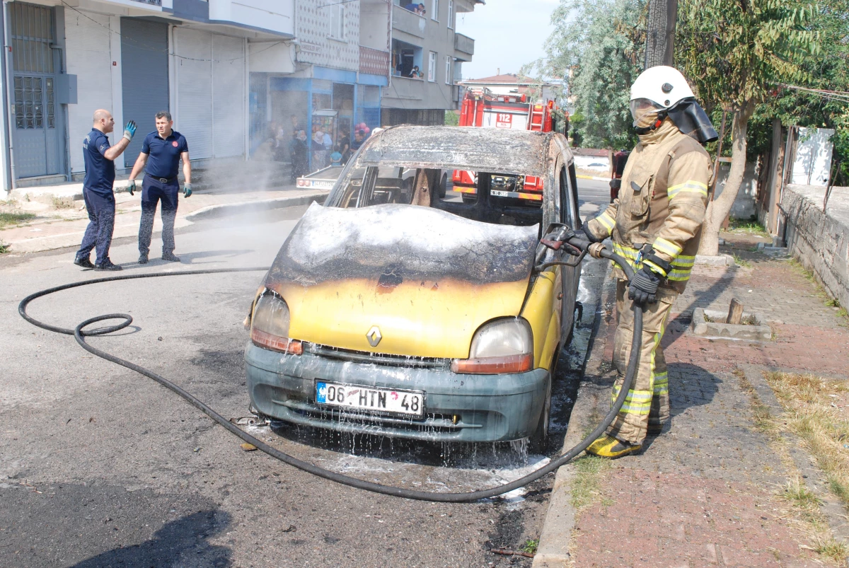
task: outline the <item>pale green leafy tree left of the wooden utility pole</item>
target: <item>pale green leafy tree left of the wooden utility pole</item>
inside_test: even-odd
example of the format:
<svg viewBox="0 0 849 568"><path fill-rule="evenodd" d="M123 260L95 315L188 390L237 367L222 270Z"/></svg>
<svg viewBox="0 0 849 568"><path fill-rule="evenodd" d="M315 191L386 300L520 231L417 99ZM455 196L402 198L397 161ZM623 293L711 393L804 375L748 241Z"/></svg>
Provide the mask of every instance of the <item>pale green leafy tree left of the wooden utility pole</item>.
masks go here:
<svg viewBox="0 0 849 568"><path fill-rule="evenodd" d="M551 16L547 59L523 68L531 75L564 77L576 138L588 148L630 148L636 142L628 110L631 83L644 49L633 31L644 18L644 0L561 0ZM643 26L644 27L644 26Z"/></svg>

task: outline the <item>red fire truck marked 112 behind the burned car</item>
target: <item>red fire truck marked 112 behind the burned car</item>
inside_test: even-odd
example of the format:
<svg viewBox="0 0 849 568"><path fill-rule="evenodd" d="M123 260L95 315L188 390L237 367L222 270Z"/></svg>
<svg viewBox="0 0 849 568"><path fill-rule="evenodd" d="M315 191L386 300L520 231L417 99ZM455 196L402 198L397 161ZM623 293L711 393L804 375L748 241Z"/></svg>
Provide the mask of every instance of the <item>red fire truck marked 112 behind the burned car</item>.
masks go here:
<svg viewBox="0 0 849 568"><path fill-rule="evenodd" d="M553 100L543 104L528 101L526 94L496 95L484 88L469 89L460 107L461 127L513 128L536 132L569 130L569 115L555 117L557 105ZM454 170L454 191L463 194L464 201L474 201L477 193L477 174ZM517 200L543 201L543 178L533 176L492 176L490 194Z"/></svg>

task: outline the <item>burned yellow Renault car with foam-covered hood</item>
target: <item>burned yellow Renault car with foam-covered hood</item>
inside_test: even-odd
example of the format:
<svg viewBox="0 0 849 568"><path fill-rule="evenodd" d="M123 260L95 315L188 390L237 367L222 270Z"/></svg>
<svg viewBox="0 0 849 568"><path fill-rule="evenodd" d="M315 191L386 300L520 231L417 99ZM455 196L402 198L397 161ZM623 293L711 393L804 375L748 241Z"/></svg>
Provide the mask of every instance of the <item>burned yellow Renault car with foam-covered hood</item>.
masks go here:
<svg viewBox="0 0 849 568"><path fill-rule="evenodd" d="M475 200L450 186L440 196L452 168L475 172ZM493 180L522 176L543 178L543 200L492 194ZM295 425L539 447L580 275L546 267L568 255L541 240L578 228L576 204L561 134L378 132L307 209L257 292L250 402Z"/></svg>

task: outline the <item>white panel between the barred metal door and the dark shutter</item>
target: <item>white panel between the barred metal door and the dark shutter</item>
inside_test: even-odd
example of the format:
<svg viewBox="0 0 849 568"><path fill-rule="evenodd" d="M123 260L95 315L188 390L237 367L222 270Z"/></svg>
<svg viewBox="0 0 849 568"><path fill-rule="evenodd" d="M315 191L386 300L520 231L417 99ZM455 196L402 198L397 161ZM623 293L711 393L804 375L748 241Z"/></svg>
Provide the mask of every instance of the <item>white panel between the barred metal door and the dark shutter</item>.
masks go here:
<svg viewBox="0 0 849 568"><path fill-rule="evenodd" d="M68 105L70 169L84 172L82 139L92 129L92 115L113 107L109 16L65 10L65 42L68 73L76 75L77 81L77 104ZM109 139L115 143L114 132Z"/></svg>

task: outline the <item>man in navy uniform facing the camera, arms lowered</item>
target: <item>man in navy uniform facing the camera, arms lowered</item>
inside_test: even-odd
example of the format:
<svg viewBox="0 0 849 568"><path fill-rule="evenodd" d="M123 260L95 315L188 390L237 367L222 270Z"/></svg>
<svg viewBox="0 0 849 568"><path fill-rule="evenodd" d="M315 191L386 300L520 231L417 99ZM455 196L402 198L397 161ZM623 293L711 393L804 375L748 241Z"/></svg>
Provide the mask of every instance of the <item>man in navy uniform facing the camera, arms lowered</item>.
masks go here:
<svg viewBox="0 0 849 568"><path fill-rule="evenodd" d="M136 177L145 164L142 182L142 222L138 227L138 263L147 264L150 252L150 236L154 231L156 205L161 201L162 210L162 260L180 262L174 255L174 219L177 217L177 171L183 160L183 195L192 194L192 166L188 161L188 143L183 134L172 127L171 113L156 113L156 132L150 132L144 138L142 153L132 166L130 183L127 187L132 195L136 189Z"/></svg>

